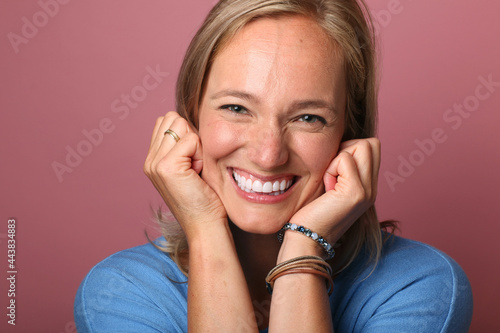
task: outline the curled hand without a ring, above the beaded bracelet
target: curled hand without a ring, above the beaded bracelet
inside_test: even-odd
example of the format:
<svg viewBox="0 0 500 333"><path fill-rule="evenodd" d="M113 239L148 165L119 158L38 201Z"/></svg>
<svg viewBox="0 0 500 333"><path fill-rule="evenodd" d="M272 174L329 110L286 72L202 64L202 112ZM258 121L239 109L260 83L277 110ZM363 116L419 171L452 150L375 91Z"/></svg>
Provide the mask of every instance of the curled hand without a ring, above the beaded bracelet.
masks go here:
<svg viewBox="0 0 500 333"><path fill-rule="evenodd" d="M376 138L343 142L324 175L325 193L297 211L290 223L336 242L375 203L380 155Z"/></svg>

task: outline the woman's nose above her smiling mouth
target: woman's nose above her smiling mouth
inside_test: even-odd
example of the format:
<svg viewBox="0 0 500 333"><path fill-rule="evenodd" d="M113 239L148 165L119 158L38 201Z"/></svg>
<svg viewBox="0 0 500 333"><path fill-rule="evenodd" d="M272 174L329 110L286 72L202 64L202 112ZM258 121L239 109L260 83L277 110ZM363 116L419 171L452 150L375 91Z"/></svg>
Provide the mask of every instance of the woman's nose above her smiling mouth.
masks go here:
<svg viewBox="0 0 500 333"><path fill-rule="evenodd" d="M288 145L278 126L255 125L249 131L248 157L262 170L272 170L288 161Z"/></svg>

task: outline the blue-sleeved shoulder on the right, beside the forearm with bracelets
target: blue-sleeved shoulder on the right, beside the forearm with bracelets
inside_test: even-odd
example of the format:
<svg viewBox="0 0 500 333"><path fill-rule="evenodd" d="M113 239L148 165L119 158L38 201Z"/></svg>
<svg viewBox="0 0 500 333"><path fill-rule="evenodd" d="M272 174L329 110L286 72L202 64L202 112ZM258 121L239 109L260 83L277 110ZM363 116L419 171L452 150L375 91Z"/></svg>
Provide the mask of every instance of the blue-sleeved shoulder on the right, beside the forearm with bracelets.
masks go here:
<svg viewBox="0 0 500 333"><path fill-rule="evenodd" d="M470 324L472 293L464 271L420 242L392 237L375 267L360 254L337 287L334 306L357 318L344 321L348 327L340 331L467 332Z"/></svg>

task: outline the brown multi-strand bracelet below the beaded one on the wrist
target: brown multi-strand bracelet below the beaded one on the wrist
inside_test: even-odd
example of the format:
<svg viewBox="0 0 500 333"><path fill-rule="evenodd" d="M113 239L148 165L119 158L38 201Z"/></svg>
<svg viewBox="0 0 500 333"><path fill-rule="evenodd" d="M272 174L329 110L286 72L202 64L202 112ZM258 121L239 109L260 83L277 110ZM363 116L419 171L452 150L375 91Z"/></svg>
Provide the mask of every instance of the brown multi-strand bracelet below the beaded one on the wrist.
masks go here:
<svg viewBox="0 0 500 333"><path fill-rule="evenodd" d="M274 267L266 277L266 287L269 294L273 293L274 281L287 274L307 273L324 277L328 282L328 295L333 291L332 268L322 258L302 256L284 261Z"/></svg>

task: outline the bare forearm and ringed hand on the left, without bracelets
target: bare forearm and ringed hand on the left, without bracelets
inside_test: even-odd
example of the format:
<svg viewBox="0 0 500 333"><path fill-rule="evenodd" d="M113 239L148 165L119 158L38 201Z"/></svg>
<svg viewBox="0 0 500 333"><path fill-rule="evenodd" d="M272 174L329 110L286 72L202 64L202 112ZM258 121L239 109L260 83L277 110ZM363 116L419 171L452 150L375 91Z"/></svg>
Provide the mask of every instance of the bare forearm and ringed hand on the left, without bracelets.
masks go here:
<svg viewBox="0 0 500 333"><path fill-rule="evenodd" d="M175 132L178 142L166 130ZM257 332L245 275L219 197L200 177L203 154L196 130L176 112L158 118L144 172L181 225L189 243L190 332L234 332L241 318ZM214 297L217 295L217 297ZM233 315L227 315L227 311Z"/></svg>

